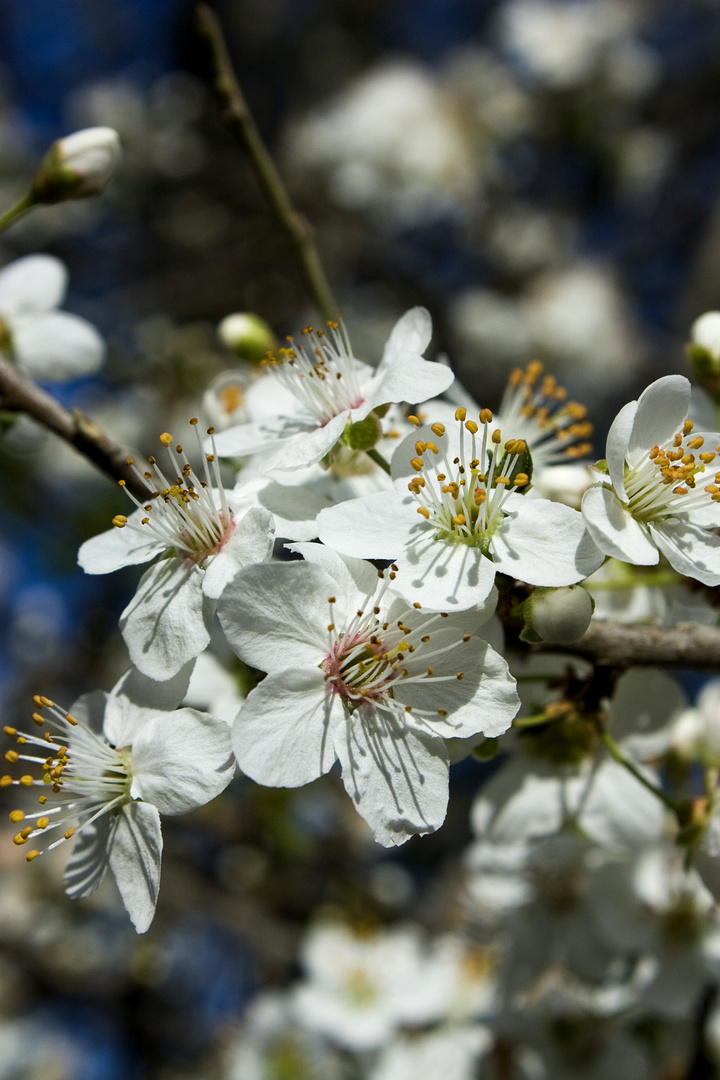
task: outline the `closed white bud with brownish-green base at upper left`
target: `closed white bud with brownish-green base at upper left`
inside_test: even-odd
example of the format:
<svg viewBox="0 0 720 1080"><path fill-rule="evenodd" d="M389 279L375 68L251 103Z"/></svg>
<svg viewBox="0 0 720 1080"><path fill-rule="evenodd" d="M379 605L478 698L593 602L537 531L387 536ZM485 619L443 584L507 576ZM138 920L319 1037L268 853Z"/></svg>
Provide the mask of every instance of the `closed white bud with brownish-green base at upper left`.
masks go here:
<svg viewBox="0 0 720 1080"><path fill-rule="evenodd" d="M122 160L118 132L112 127L85 127L51 146L32 181L35 202L97 195Z"/></svg>

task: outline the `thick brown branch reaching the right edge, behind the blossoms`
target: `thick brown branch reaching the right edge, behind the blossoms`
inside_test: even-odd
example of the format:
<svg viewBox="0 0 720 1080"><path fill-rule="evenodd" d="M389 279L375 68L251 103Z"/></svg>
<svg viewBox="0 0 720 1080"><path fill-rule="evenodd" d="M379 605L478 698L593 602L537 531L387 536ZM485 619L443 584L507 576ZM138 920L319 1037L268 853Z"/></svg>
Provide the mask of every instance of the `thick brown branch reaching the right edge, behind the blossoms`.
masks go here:
<svg viewBox="0 0 720 1080"><path fill-rule="evenodd" d="M720 669L720 627L694 622L677 626L598 620L572 645L538 645L533 651L584 657L603 667L636 664Z"/></svg>

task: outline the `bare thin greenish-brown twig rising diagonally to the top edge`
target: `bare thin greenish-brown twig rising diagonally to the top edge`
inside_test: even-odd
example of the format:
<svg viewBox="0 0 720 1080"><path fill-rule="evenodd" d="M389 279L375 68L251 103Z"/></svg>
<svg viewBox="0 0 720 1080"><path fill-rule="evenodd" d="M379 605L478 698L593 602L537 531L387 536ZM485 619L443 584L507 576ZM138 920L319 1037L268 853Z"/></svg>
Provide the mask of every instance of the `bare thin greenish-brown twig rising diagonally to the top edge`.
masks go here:
<svg viewBox="0 0 720 1080"><path fill-rule="evenodd" d="M222 121L243 146L268 202L290 239L310 297L324 319L337 319L338 306L323 270L312 226L290 202L275 163L262 141L237 82L217 15L207 4L199 3L196 17L198 29L207 41L213 57L215 92Z"/></svg>

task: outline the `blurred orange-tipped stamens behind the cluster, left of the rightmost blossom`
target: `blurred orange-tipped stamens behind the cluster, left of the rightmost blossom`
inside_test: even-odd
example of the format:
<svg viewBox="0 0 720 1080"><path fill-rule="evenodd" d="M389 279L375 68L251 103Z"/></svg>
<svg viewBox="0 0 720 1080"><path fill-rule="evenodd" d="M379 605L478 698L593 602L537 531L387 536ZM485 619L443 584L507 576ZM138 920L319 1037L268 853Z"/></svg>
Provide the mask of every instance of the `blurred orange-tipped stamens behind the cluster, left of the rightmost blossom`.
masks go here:
<svg viewBox="0 0 720 1080"><path fill-rule="evenodd" d="M569 402L567 390L555 377L542 373L539 360L511 373L500 406L503 423L522 431L535 468L587 457L593 451L587 442L593 434L587 409L579 402Z"/></svg>

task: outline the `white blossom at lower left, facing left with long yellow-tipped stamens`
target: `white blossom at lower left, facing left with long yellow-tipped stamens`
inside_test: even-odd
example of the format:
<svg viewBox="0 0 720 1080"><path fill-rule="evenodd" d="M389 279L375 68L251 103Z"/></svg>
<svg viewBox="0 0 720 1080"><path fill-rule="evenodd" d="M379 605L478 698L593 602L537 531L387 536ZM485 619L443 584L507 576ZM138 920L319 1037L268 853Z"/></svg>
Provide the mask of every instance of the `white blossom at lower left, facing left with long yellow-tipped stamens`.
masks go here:
<svg viewBox="0 0 720 1080"><path fill-rule="evenodd" d="M2 787L42 791L39 810L11 811L11 821L22 824L15 843L38 843L26 855L31 862L74 836L65 891L91 895L109 866L138 933L150 926L158 901L160 814L209 802L235 771L228 725L176 707L189 674L186 667L159 684L131 669L109 694L84 694L71 713L38 696L32 730L4 728L17 744L5 759L42 770L41 779L29 772L0 779Z"/></svg>

